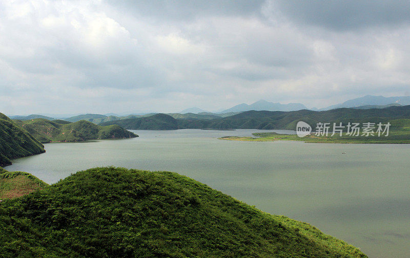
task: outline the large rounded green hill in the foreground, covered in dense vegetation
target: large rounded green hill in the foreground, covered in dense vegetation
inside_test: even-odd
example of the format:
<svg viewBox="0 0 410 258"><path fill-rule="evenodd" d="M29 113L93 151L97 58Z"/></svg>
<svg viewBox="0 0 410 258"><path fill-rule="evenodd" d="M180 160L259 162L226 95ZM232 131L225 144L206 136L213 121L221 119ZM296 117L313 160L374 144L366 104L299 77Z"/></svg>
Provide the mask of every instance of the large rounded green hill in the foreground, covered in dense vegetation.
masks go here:
<svg viewBox="0 0 410 258"><path fill-rule="evenodd" d="M2 257L367 257L170 172L94 168L0 203Z"/></svg>

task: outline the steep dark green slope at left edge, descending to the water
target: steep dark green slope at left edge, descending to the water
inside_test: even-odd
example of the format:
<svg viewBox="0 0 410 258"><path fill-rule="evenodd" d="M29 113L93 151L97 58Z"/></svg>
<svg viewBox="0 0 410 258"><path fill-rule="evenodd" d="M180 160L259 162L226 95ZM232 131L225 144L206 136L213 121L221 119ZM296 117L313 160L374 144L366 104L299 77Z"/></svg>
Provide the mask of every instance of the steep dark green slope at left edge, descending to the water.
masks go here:
<svg viewBox="0 0 410 258"><path fill-rule="evenodd" d="M44 152L43 144L0 113L0 166L10 165L11 159Z"/></svg>

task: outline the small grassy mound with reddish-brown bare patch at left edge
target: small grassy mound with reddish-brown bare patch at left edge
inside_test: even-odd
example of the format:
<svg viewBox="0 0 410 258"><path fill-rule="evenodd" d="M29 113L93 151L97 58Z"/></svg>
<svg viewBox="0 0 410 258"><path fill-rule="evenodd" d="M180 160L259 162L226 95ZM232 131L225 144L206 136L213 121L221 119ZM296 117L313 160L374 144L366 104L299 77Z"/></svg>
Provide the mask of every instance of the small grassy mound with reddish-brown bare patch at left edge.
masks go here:
<svg viewBox="0 0 410 258"><path fill-rule="evenodd" d="M46 186L46 183L29 173L0 169L0 200L24 196Z"/></svg>

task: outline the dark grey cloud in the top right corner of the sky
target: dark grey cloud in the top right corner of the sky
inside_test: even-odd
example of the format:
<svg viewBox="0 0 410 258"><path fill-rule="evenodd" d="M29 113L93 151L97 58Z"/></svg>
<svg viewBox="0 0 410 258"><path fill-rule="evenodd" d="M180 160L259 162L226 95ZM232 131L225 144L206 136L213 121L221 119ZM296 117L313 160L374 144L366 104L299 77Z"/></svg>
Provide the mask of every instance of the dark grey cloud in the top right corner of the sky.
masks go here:
<svg viewBox="0 0 410 258"><path fill-rule="evenodd" d="M300 24L311 24L331 30L398 26L410 22L408 1L277 0L273 6Z"/></svg>

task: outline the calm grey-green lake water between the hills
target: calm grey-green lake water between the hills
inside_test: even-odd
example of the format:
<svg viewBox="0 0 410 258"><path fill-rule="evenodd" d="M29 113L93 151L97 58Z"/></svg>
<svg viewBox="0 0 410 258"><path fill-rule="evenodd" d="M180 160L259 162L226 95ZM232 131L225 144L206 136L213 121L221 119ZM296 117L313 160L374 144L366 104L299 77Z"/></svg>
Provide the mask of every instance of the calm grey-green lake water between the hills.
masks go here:
<svg viewBox="0 0 410 258"><path fill-rule="evenodd" d="M13 160L7 169L47 183L96 166L175 171L261 210L309 222L370 257L410 253L409 144L216 139L260 130L133 132L140 137L46 144L45 154Z"/></svg>

